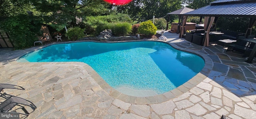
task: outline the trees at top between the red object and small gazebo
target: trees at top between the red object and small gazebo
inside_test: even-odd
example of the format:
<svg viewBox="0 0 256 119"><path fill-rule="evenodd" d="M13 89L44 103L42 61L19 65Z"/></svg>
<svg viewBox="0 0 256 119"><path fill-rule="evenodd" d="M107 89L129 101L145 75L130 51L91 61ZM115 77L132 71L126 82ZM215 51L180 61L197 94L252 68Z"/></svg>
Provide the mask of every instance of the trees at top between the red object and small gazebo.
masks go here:
<svg viewBox="0 0 256 119"><path fill-rule="evenodd" d="M167 13L181 8L180 0L133 0L124 6L114 6L118 12L129 14L132 18L142 21L150 20L153 16L161 18Z"/></svg>

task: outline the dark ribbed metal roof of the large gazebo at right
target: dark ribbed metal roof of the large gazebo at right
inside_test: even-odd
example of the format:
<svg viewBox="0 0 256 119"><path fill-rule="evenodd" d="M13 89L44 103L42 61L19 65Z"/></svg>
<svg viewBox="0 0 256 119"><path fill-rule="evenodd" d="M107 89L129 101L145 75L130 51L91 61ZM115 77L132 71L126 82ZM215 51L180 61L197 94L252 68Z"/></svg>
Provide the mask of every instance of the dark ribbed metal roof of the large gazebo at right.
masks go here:
<svg viewBox="0 0 256 119"><path fill-rule="evenodd" d="M256 17L255 0L217 0L210 5L184 14L185 16Z"/></svg>

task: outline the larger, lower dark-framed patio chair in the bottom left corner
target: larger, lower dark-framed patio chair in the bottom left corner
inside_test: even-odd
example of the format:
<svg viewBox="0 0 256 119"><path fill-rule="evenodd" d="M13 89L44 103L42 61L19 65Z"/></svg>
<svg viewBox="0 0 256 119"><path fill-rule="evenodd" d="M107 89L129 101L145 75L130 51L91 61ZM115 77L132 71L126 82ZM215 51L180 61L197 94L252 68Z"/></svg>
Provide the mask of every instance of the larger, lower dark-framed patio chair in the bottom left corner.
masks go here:
<svg viewBox="0 0 256 119"><path fill-rule="evenodd" d="M29 100L6 93L0 95L0 102L0 113L19 113L20 119L28 117L28 115L37 108L36 105Z"/></svg>

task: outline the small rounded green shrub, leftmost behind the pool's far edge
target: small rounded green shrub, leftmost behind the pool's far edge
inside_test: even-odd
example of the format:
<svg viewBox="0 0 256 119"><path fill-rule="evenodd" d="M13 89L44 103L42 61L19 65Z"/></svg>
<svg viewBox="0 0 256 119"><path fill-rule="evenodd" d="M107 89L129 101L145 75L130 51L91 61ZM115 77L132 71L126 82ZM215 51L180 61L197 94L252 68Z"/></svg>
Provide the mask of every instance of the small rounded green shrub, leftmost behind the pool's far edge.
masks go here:
<svg viewBox="0 0 256 119"><path fill-rule="evenodd" d="M75 41L84 37L84 30L80 27L72 27L68 29L67 35L69 39Z"/></svg>

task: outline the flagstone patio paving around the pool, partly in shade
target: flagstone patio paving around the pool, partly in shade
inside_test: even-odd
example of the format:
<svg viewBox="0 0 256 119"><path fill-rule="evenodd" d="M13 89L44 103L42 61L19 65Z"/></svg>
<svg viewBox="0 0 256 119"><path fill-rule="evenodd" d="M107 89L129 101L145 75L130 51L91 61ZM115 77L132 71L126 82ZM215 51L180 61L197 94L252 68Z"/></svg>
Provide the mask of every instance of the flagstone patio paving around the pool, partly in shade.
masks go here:
<svg viewBox="0 0 256 119"><path fill-rule="evenodd" d="M211 70L198 74L171 92L159 96L123 95L101 81L82 62L16 62L38 49L0 49L0 82L26 90L7 90L26 98L37 109L28 119L253 119L256 117L256 64L222 46L202 47L175 33L165 33L167 43L182 50L208 55ZM165 35L164 34L164 35ZM208 73L207 73L208 72ZM201 77L201 78L200 78Z"/></svg>

